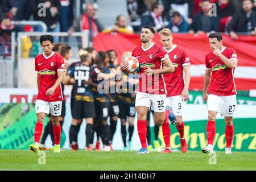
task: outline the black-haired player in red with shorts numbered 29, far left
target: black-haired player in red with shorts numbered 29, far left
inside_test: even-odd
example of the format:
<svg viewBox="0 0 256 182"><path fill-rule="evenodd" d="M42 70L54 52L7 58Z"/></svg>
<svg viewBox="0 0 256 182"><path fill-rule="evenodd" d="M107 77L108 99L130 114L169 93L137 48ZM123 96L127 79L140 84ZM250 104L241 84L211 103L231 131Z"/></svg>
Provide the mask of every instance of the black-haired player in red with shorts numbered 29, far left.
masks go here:
<svg viewBox="0 0 256 182"><path fill-rule="evenodd" d="M43 131L46 115L51 113L53 134L55 139L54 152L60 152L60 118L63 93L61 81L65 72L64 60L61 55L52 51L54 47L51 35L40 36L43 49L41 55L35 58L35 71L38 72L38 97L35 103L37 122L35 126L35 144L30 145L30 150L39 151L39 142Z"/></svg>

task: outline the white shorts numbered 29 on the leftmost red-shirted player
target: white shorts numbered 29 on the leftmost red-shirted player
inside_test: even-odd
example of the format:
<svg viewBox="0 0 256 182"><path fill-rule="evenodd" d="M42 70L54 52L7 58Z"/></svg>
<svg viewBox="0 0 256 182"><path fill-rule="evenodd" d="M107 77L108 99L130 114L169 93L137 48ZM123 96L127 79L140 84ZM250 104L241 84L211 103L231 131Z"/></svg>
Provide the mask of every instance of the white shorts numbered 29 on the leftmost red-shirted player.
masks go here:
<svg viewBox="0 0 256 182"><path fill-rule="evenodd" d="M35 109L36 113L46 113L47 115L59 116L61 115L62 101L46 102L42 100L36 100Z"/></svg>

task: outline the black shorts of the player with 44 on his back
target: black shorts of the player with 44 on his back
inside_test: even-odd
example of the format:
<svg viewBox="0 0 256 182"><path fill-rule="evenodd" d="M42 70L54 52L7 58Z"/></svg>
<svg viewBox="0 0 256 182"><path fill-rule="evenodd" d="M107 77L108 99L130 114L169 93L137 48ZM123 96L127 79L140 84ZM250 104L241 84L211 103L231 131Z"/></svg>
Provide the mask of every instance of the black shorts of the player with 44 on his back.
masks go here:
<svg viewBox="0 0 256 182"><path fill-rule="evenodd" d="M72 117L75 119L96 117L94 102L73 101Z"/></svg>

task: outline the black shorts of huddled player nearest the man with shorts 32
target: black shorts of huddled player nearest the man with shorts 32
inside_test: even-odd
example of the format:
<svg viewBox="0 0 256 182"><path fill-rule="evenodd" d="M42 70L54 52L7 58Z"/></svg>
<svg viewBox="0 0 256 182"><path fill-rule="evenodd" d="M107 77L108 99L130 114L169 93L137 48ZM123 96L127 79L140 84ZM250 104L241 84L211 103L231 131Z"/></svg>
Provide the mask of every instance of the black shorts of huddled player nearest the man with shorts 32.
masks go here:
<svg viewBox="0 0 256 182"><path fill-rule="evenodd" d="M119 118L126 119L127 117L135 117L136 109L135 103L120 102L119 103Z"/></svg>

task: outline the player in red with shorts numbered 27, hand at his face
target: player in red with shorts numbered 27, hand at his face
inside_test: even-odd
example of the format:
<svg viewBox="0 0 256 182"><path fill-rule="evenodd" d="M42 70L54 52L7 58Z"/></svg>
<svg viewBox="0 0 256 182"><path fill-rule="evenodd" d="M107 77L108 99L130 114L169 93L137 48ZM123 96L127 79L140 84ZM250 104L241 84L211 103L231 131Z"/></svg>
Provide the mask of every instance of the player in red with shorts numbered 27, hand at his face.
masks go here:
<svg viewBox="0 0 256 182"><path fill-rule="evenodd" d="M202 149L202 152L213 153L216 115L218 111L221 111L226 124L225 154L232 154L233 115L237 106L237 92L233 74L238 63L237 53L235 49L223 46L222 36L219 33L209 35L209 44L212 51L205 57L206 70L204 75L204 100L208 107L208 145Z"/></svg>

